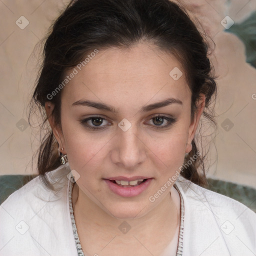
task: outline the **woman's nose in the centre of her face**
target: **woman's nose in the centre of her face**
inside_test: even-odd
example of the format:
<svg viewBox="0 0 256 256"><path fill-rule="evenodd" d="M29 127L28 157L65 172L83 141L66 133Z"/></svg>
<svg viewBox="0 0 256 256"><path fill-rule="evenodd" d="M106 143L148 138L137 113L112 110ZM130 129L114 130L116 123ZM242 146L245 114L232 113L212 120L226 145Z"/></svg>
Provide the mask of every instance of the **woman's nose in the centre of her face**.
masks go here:
<svg viewBox="0 0 256 256"><path fill-rule="evenodd" d="M134 169L146 159L146 145L133 125L126 131L117 129L111 160L119 167Z"/></svg>

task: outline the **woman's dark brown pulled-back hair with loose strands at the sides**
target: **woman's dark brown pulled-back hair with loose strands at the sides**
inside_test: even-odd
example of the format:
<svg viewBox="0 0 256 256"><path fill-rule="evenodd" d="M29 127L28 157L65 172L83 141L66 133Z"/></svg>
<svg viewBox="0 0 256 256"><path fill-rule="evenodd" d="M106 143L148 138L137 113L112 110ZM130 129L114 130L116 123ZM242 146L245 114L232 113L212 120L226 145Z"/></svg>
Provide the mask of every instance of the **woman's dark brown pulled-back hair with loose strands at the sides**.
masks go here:
<svg viewBox="0 0 256 256"><path fill-rule="evenodd" d="M213 110L206 112L216 96L208 46L183 7L169 0L72 0L45 37L43 61L30 102L29 118L34 107L38 107L43 117L40 127L42 130L46 127L38 149L37 170L49 187L45 173L60 165L60 156L45 115L47 95L61 83L67 69L77 65L95 48L128 48L138 42L154 44L180 61L192 94L191 120L202 93L206 97L203 116L216 125ZM50 99L54 104L52 115L58 125L60 99L61 91ZM192 150L184 164L197 155L196 152L193 139ZM204 156L198 155L180 174L196 184L206 185Z"/></svg>

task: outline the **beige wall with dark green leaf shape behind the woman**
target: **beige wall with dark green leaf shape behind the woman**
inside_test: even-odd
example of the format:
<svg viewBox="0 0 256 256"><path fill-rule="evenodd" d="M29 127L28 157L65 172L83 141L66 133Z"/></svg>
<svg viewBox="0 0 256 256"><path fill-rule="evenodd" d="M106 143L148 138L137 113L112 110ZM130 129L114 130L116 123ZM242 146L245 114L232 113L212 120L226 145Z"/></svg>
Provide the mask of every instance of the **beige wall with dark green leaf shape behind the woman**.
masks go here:
<svg viewBox="0 0 256 256"><path fill-rule="evenodd" d="M36 174L38 129L30 128L26 113L39 68L36 43L67 3L0 0L0 175ZM256 0L183 3L215 43L209 39L218 127L203 126L207 176L256 188Z"/></svg>

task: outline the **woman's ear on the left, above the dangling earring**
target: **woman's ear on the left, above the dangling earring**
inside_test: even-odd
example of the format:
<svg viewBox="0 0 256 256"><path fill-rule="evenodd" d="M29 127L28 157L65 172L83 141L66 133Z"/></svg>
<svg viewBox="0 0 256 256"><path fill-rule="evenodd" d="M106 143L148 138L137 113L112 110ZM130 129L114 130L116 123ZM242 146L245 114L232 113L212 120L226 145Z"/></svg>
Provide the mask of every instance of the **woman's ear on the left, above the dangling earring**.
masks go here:
<svg viewBox="0 0 256 256"><path fill-rule="evenodd" d="M59 127L59 125L57 125L55 123L55 120L52 115L52 110L54 108L54 104L51 101L46 101L44 104L44 108L45 108L45 112L46 112L50 127L52 129L53 135L59 144L59 148L60 148L59 151L62 152L63 154L65 154L65 152L64 152L64 148L65 148L64 136L62 134L61 128ZM63 148L63 150L61 150L61 148Z"/></svg>

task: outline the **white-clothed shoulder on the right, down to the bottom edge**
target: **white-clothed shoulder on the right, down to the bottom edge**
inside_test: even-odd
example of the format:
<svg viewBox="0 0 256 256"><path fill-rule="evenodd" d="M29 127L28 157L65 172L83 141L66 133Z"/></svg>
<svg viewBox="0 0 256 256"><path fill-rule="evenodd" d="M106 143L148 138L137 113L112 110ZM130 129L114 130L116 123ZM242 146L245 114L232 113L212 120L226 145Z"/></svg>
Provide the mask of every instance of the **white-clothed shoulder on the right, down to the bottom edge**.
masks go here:
<svg viewBox="0 0 256 256"><path fill-rule="evenodd" d="M207 248L212 255L219 252L245 256L251 250L256 252L255 212L239 201L183 177L176 183L184 201L184 241L191 242L193 253L203 251L201 241L212 243Z"/></svg>

